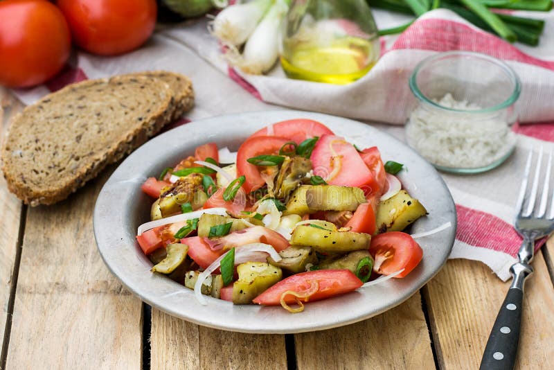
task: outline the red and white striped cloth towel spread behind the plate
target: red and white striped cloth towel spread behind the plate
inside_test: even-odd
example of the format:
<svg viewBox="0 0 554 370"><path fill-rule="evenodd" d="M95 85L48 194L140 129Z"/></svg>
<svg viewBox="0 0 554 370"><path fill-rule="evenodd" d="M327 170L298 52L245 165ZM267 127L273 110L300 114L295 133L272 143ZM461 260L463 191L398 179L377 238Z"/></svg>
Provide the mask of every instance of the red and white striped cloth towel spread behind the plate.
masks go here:
<svg viewBox="0 0 554 370"><path fill-rule="evenodd" d="M381 27L404 21L401 17L375 11ZM529 48L503 42L448 10L434 10L402 35L382 38L382 58L364 78L347 86L288 80L279 67L269 76L245 76L227 66L219 45L206 30L206 20L199 19L158 30L148 44L126 55L105 58L80 52L75 55L73 67L47 84L15 93L24 103L33 103L69 82L168 69L190 76L195 85L196 107L181 122L276 109L266 104L273 103L373 121L373 125L402 138L402 127L375 122L404 123L413 99L407 79L415 64L428 55L454 49L501 58L517 71L523 85L517 109L520 121L528 124L516 127L517 150L505 164L488 173L443 177L458 212L456 243L450 258L483 261L506 280L521 243L512 228L512 218L524 160L531 148L542 145L547 152L554 150L554 17L544 17L549 20L541 45ZM539 121L542 123L536 123Z"/></svg>

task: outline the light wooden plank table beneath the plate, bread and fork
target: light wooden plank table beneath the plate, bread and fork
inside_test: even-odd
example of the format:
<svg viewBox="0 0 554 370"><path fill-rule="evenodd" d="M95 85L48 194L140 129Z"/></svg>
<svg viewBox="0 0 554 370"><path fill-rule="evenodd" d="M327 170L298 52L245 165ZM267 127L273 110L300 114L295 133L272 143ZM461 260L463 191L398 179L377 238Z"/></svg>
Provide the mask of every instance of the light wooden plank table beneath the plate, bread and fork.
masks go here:
<svg viewBox="0 0 554 370"><path fill-rule="evenodd" d="M1 90L0 102L3 133L21 103ZM150 310L108 272L94 242L94 202L114 168L68 200L36 208L21 204L0 179L2 368L479 367L509 283L474 261L450 260L400 306L328 331L231 333ZM554 369L552 242L537 253L526 285L518 369Z"/></svg>

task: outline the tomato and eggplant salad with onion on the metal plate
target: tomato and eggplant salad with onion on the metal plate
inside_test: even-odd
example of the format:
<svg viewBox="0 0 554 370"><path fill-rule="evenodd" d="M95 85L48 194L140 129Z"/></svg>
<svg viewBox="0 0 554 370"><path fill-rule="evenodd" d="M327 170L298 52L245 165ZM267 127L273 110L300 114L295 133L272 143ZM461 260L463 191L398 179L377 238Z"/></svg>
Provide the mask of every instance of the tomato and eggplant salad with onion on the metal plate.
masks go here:
<svg viewBox="0 0 554 370"><path fill-rule="evenodd" d="M421 261L402 230L427 211L402 190L400 170L322 123L274 123L236 153L206 143L147 179L152 221L136 240L152 272L201 303L209 295L299 312Z"/></svg>

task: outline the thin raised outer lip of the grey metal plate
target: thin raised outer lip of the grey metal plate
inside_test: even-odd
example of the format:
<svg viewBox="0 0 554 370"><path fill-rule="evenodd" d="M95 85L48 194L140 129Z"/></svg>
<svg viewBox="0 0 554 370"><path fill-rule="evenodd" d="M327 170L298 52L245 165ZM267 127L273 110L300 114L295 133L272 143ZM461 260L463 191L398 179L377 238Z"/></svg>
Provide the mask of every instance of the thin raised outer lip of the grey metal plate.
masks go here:
<svg viewBox="0 0 554 370"><path fill-rule="evenodd" d="M441 258L440 258L439 266L436 268L436 270L434 270L434 272L432 274L427 276L425 279L422 279L422 281L419 281L414 286L411 286L411 288L409 288L409 292L407 294L400 294L400 296L397 297L397 299L394 299L391 303L389 303L388 306L383 306L382 308L377 309L377 310L373 310L372 312L368 312L368 313L363 314L363 315L348 317L348 319L339 319L339 321L328 322L328 323L323 323L323 324L318 324L318 325L294 326L294 327L283 327L283 328L274 328L274 329L258 328L256 326L245 327L245 326L242 326L242 325L233 325L233 322L227 322L226 324L220 324L220 323L214 323L210 319L203 319L203 318L190 317L188 315L184 315L183 312L179 312L179 311L174 310L172 308L168 308L167 305L163 304L163 302L159 303L156 300L152 300L151 299L152 294L144 294L143 291L137 290L136 288L134 288L134 286L132 284L127 282L127 279L124 279L124 276L120 276L120 274L118 274L116 268L114 268L114 266L112 265L113 261L110 261L107 258L107 254L105 253L104 248L100 245L102 243L102 238L100 237L100 233L103 232L102 230L100 230L100 224L103 223L102 220L100 220L100 217L103 217L102 212L100 211L100 209L102 209L102 202L105 202L105 197L106 197L105 189L108 186L110 186L111 180L114 178L114 175L118 172L120 167L124 166L129 161L132 161L133 158L136 157L136 153L140 152L141 148L143 148L143 146L147 145L148 143L152 143L152 142L156 142L156 141L163 141L164 138L170 137L172 134L175 134L175 132L177 132L177 131L191 130L190 128L187 129L187 127L191 127L190 126L191 124L193 125L193 127L195 127L195 125L201 125L204 121L214 121L214 120L217 120L217 119L222 119L222 118L223 119L228 119L228 118L233 118L233 117L249 118L250 116L260 116L260 115L261 116L265 116L265 115L268 115L268 116L283 115L285 117L283 117L282 119L290 119L290 118L286 117L287 115L290 115L290 114L293 114L293 115L296 114L298 116L303 116L302 118L316 119L317 121L323 121L323 123L325 123L324 122L325 118L332 118L333 120L344 121L348 124L353 123L355 125L364 126L364 127L368 128L368 130L375 130L375 131L379 132L380 134L383 134L384 136L388 136L388 139L391 139L391 141L396 141L404 149L409 150L409 152L411 152L414 155L414 157L418 158L418 160L420 160L420 161L424 161L428 165L427 166L428 170L430 170L431 173L434 173L434 175L436 175L436 178L439 180L439 184L442 186L442 188L447 193L447 201L449 203L450 210L454 210L454 213L453 213L454 217L451 220L449 220L449 222L452 222L452 228L449 228L450 229L450 233L449 233L450 238L447 241L447 243L445 243L446 248L444 249L443 256L441 256ZM264 126L260 125L260 127L264 127ZM237 131L242 133L242 131L240 129L237 130ZM348 139L348 136L346 136L346 139ZM352 141L352 140L349 140L349 141ZM152 144L150 144L150 145L152 145ZM455 236L456 236L456 227L457 227L455 204L454 204L454 200L452 198L452 194L450 193L449 188L447 187L443 177L438 173L438 171L431 164L429 164L428 161L426 161L417 152L415 152L415 150L413 150L411 147L409 147L407 143L402 142L400 139L397 139L395 136L389 134L388 132L385 132L383 130L379 130L377 127L373 127L371 125L368 125L367 123L363 123L363 122L360 122L360 121L357 121L357 120L354 120L354 119L351 119L351 118L343 118L343 117L340 117L340 116L332 116L330 114L322 114L322 113L317 113L317 112L305 112L305 111L294 110L294 109L239 112L239 113L233 113L233 114L221 114L221 115L218 115L218 116L211 116L211 117L206 117L206 118L198 119L198 120L195 120L195 121L191 121L190 123L187 123L186 125L181 125L181 126L172 128L171 130L168 130L166 132L163 132L163 133L159 134L158 136L155 136L154 138L150 139L145 144L143 144L143 146L141 146L141 147L137 148L136 150L134 150L134 152L132 152L131 155L129 155L127 158L125 158L122 162L120 162L120 164L118 165L116 170L114 170L114 173L112 173L110 175L107 182L105 182L105 184L102 186L102 189L100 190L100 193L98 194L98 197L96 198L96 204L95 204L94 211L93 211L93 231L94 231L94 238L96 240L96 246L97 246L98 252L100 253L100 256L102 256L102 260L104 261L105 265L108 267L108 270L111 272L111 274L116 276L118 281L120 281L120 283L123 286L125 286L125 288L127 290L129 290L129 292L132 292L134 295L139 297L145 303L148 303L153 308L157 308L158 310L161 310L162 312L166 312L169 315L172 315L174 317L178 317L180 319L184 319L186 321L193 322L194 324L199 324L199 325L202 325L202 326L207 326L207 327L210 327L210 328L217 328L217 329L226 330L226 331L235 331L235 332L240 332L240 333L269 333L269 334L304 333L304 332L310 332L310 331L326 330L326 329L335 328L335 327L338 327L338 326L346 326L348 324L354 324L355 322L362 321L362 320L368 319L370 317L374 317L376 315L381 314L382 312L390 310L391 308L394 308L394 307L400 305L401 303L403 303L404 301L406 301L407 299L412 297L413 294L418 292L422 288L423 285L428 283L431 279L434 278L434 276L436 276L436 274L438 274L438 272L440 272L440 270L444 267L450 252L452 251L452 247L454 246L454 241L455 241ZM136 186L136 184L134 186ZM105 204L104 204L104 206L105 206ZM134 240L134 238L133 238L133 240ZM177 283L175 281L172 281L172 280L166 278L165 276L157 276L157 278L164 279L164 280L168 281L168 283L170 283L170 285L175 285L175 287L181 287L183 289L188 290L188 288L185 288L183 285L180 285L179 283ZM363 294L363 293L361 293L361 294ZM348 296L348 294L346 294L346 296ZM345 297L345 296L343 296L343 297ZM341 299L341 297L338 297L338 299ZM325 302L325 301L320 301L320 302ZM315 303L311 303L311 304L318 304L318 303L319 302L315 302ZM229 303L229 304L231 304L231 303ZM231 305L231 306L233 306L233 305ZM233 308L235 308L235 307L245 307L245 306L233 306ZM251 307L251 306L246 306L246 307ZM253 306L253 307L259 307L259 306ZM309 308L309 306L308 306L308 308Z"/></svg>

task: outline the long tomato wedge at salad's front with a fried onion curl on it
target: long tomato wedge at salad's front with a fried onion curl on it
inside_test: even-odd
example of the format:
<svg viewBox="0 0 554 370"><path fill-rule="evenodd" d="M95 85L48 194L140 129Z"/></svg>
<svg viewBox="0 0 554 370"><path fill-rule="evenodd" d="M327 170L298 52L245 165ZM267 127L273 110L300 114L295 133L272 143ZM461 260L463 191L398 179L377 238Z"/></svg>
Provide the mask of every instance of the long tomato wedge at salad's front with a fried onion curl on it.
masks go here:
<svg viewBox="0 0 554 370"><path fill-rule="evenodd" d="M254 303L264 306L280 305L281 295L287 291L306 292L314 290L305 298L298 298L300 301L319 301L339 294L352 292L364 285L350 270L316 270L302 272L281 280L271 288L253 299ZM317 289L314 289L317 288ZM292 294L285 296L287 304L295 303L296 297Z"/></svg>

